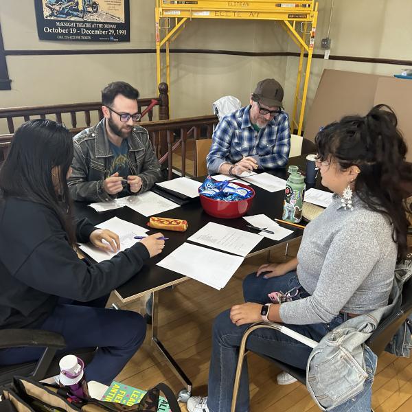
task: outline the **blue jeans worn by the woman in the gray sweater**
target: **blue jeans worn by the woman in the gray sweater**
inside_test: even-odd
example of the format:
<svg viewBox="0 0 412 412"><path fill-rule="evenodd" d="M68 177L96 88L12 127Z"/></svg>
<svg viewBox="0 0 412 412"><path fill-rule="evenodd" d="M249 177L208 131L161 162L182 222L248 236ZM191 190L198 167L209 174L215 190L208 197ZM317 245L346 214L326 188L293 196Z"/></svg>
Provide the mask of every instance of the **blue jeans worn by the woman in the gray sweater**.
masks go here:
<svg viewBox="0 0 412 412"><path fill-rule="evenodd" d="M284 276L271 277L269 279L264 279L262 276L256 277L256 274L252 273L243 282L244 300L260 304L271 303L268 293L275 291L286 293L293 288L299 288L299 293L293 299L308 297L309 294L299 284L295 271L286 273ZM344 316L340 314L330 323L287 326L315 341L320 341L325 334L343 323L343 321ZM233 324L229 318L229 310L220 313L214 321L207 398L207 407L210 412L229 412L231 409L233 382L238 363L240 341L247 328L249 328L249 325L236 326ZM247 341L247 349L258 354L271 356L301 369L306 369L308 357L310 352L312 352L312 349L303 343L270 329L258 329L252 332ZM368 392L365 385L365 390L356 396L356 400L353 401L353 408L350 411L370 411L370 394L370 387ZM358 397L359 402L361 402L359 404L361 409L358 409ZM367 402L369 402L369 407L366 406ZM341 409L341 407L333 409L335 412L348 410ZM249 376L247 361L245 360L240 376L236 412L247 411L249 411Z"/></svg>

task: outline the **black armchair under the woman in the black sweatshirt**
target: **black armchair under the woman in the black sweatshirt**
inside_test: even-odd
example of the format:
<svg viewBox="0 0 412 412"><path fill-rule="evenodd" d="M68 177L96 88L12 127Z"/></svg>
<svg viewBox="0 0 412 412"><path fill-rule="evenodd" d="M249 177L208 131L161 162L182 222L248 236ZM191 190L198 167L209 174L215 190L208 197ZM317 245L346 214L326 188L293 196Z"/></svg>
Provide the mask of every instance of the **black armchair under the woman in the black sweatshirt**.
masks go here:
<svg viewBox="0 0 412 412"><path fill-rule="evenodd" d="M0 330L0 349L10 347L45 347L38 361L19 363L16 365L0 365L0 386L8 386L13 376L31 377L34 380L43 380L60 373L58 363L62 356L68 353L59 353L66 347L63 336L56 332L37 329L2 329ZM90 363L95 354L95 347L85 347L70 354L82 359L85 365Z"/></svg>

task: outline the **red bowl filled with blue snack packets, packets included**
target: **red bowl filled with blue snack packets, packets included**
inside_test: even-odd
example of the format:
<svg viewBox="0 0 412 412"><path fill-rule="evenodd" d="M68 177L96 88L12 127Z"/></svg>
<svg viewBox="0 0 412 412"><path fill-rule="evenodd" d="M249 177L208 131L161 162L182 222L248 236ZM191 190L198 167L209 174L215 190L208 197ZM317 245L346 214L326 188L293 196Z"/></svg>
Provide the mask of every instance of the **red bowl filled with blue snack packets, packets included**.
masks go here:
<svg viewBox="0 0 412 412"><path fill-rule="evenodd" d="M243 183L218 182L207 176L198 188L201 205L210 216L235 219L251 208L255 191Z"/></svg>

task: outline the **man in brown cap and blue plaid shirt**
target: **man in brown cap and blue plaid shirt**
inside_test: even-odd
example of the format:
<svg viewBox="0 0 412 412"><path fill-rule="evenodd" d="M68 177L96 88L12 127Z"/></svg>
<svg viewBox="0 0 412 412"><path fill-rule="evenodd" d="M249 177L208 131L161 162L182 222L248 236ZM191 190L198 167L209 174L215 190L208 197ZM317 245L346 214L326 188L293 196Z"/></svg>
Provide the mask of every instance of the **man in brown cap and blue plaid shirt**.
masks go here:
<svg viewBox="0 0 412 412"><path fill-rule="evenodd" d="M282 168L290 150L289 117L282 110L284 91L274 79L258 82L250 106L223 117L213 134L207 170L239 176L258 168Z"/></svg>

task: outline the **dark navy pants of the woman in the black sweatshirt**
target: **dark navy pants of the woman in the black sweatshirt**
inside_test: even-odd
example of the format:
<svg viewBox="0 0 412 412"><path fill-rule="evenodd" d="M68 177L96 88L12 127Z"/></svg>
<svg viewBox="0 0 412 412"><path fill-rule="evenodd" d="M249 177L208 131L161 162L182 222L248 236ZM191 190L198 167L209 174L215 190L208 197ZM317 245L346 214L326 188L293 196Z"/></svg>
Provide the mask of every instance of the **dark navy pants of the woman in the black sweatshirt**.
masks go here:
<svg viewBox="0 0 412 412"><path fill-rule="evenodd" d="M67 343L64 352L98 347L84 369L87 381L110 385L135 354L146 336L146 322L137 312L105 309L108 296L90 302L60 299L39 329L58 332ZM16 347L0 350L0 365L36 361L43 348Z"/></svg>

